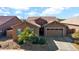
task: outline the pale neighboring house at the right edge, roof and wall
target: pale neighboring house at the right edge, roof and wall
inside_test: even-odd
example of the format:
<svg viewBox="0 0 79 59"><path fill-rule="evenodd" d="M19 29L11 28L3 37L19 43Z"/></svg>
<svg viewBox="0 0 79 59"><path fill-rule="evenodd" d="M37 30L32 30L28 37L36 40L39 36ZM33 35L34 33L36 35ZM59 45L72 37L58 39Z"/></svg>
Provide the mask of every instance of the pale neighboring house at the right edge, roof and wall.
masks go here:
<svg viewBox="0 0 79 59"><path fill-rule="evenodd" d="M61 23L66 24L71 32L79 31L79 16L66 19L61 21Z"/></svg>

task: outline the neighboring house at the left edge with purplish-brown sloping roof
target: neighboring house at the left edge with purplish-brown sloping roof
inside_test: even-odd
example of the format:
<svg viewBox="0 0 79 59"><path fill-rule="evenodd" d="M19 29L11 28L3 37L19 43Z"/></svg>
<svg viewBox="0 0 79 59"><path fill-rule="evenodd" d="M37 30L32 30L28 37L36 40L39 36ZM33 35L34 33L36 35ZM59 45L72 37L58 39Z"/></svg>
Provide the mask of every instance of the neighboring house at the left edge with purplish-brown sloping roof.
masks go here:
<svg viewBox="0 0 79 59"><path fill-rule="evenodd" d="M0 35L7 34L11 30L11 26L21 23L16 16L0 16Z"/></svg>

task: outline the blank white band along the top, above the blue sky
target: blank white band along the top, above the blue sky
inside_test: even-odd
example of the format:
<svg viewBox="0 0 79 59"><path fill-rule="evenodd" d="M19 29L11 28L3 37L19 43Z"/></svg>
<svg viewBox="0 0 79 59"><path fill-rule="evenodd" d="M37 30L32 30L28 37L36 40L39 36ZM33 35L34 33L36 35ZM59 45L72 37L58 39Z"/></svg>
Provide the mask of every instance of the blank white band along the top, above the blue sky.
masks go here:
<svg viewBox="0 0 79 59"><path fill-rule="evenodd" d="M0 0L0 7L28 9L28 7L79 7L79 0Z"/></svg>

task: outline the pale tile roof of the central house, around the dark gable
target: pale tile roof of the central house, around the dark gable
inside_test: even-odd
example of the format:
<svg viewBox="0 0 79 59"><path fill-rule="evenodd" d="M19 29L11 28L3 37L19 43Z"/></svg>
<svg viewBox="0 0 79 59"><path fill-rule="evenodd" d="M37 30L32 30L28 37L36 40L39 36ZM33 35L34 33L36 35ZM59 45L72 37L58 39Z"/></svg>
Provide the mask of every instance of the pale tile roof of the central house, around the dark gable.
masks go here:
<svg viewBox="0 0 79 59"><path fill-rule="evenodd" d="M47 23L51 23L53 21L58 21L58 19L56 17L53 17L53 16L41 16L41 17L35 17L35 16L33 16L33 17L28 17L26 21L29 22L29 23L31 23L31 24L34 24L34 25L40 27L40 25L38 25L35 22L35 20L39 19L39 18L42 18L42 19L46 20Z"/></svg>

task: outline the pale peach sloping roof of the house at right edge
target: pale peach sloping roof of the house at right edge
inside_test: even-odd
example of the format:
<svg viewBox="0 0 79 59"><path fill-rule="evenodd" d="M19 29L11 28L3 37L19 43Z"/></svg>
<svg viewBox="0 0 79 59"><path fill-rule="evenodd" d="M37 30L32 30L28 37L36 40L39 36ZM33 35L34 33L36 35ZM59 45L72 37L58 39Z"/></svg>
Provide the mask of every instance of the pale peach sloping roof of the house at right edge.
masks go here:
<svg viewBox="0 0 79 59"><path fill-rule="evenodd" d="M68 18L64 21L61 21L61 23L79 25L79 16Z"/></svg>

